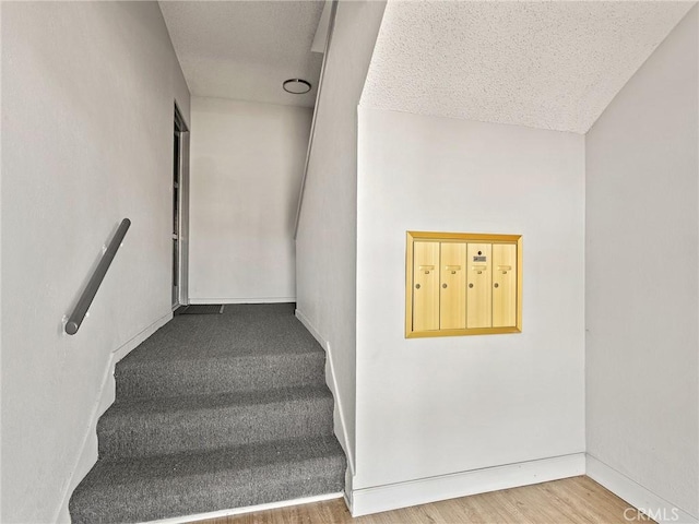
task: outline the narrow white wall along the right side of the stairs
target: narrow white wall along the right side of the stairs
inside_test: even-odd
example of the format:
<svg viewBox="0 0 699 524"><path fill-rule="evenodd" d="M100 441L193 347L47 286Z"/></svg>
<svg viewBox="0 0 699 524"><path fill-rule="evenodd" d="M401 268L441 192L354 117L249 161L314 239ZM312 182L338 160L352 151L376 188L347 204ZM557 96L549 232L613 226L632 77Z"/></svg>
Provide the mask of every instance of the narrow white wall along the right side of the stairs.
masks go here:
<svg viewBox="0 0 699 524"><path fill-rule="evenodd" d="M297 313L332 366L335 433L354 466L357 104L384 2L340 2L296 238Z"/></svg>

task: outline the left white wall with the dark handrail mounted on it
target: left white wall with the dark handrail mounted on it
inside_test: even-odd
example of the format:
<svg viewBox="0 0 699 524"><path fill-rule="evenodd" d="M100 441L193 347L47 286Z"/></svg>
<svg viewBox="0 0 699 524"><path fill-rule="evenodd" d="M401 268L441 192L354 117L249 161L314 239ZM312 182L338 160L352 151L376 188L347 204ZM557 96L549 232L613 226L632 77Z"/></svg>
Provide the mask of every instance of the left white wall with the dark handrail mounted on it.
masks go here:
<svg viewBox="0 0 699 524"><path fill-rule="evenodd" d="M188 119L157 3L3 3L2 522L66 517L112 352L171 314L175 99ZM123 217L90 318L63 334Z"/></svg>

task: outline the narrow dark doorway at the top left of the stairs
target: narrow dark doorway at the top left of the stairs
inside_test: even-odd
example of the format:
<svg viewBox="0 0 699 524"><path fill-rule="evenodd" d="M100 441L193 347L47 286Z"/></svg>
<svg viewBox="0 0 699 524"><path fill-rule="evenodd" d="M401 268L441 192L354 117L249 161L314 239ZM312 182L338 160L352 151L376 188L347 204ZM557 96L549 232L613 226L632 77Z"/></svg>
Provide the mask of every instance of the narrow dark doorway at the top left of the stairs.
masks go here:
<svg viewBox="0 0 699 524"><path fill-rule="evenodd" d="M173 310L189 303L189 130L175 104L173 131Z"/></svg>

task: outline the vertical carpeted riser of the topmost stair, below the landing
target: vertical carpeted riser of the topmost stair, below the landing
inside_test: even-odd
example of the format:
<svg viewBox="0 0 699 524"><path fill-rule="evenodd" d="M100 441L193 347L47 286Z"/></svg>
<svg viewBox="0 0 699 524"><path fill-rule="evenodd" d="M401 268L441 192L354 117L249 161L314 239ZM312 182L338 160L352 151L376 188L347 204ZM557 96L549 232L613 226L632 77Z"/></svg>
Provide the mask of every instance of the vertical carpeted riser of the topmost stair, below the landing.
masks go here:
<svg viewBox="0 0 699 524"><path fill-rule="evenodd" d="M190 359L131 359L117 365L117 398L209 395L322 385L325 354L310 345L305 353L242 353Z"/></svg>

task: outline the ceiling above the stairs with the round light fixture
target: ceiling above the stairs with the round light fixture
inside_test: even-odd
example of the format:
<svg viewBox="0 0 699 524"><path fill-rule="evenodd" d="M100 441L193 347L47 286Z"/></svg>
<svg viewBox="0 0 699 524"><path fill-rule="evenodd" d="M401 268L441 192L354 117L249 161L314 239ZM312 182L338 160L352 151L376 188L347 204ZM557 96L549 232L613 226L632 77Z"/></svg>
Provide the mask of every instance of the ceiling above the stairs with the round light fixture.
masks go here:
<svg viewBox="0 0 699 524"><path fill-rule="evenodd" d="M194 96L312 107L322 55L311 52L323 1L161 1ZM305 79L306 95L282 90Z"/></svg>

